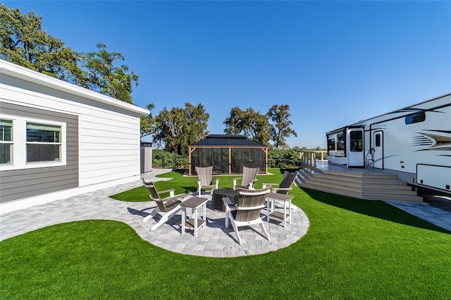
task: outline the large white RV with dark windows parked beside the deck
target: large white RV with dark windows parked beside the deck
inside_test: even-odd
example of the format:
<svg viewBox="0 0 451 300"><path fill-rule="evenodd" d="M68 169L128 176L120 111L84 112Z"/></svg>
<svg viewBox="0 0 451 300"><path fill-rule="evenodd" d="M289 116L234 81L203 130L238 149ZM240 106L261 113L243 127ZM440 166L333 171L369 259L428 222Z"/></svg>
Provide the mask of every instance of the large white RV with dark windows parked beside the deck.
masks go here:
<svg viewBox="0 0 451 300"><path fill-rule="evenodd" d="M326 133L328 162L451 194L451 93Z"/></svg>

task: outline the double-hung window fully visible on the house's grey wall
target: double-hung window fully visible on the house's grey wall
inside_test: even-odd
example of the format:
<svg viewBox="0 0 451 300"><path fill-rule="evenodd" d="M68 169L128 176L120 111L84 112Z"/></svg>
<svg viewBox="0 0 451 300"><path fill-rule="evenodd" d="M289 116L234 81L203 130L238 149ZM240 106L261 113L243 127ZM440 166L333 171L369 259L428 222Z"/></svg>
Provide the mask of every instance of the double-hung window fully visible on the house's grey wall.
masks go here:
<svg viewBox="0 0 451 300"><path fill-rule="evenodd" d="M61 160L61 126L27 123L27 163Z"/></svg>

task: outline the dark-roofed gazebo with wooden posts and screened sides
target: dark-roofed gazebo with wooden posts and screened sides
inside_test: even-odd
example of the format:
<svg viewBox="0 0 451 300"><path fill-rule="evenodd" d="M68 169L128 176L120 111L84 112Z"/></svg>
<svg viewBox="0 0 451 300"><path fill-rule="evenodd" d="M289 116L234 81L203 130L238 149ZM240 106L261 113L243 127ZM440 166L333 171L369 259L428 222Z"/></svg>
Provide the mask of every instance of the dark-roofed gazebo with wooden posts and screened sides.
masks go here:
<svg viewBox="0 0 451 300"><path fill-rule="evenodd" d="M196 174L196 167L210 165L214 174L242 174L242 167L260 168L259 173L268 173L268 146L242 135L209 135L188 148L190 176Z"/></svg>

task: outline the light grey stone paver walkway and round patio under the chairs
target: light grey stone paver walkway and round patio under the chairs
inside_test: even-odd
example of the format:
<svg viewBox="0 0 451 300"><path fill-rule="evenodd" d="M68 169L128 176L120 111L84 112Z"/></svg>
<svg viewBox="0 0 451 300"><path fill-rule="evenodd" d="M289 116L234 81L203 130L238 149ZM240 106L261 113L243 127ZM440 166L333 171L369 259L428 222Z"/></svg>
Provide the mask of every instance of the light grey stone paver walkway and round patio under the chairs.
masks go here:
<svg viewBox="0 0 451 300"><path fill-rule="evenodd" d="M158 172L147 173L144 177L154 177ZM152 178L164 180L162 178ZM206 204L206 227L199 229L198 237L192 230L181 235L181 215L174 215L159 229L151 232L154 219L142 223L142 219L156 206L149 202L124 202L109 198L110 195L142 185L141 181L129 182L116 187L100 189L96 192L61 199L49 204L12 211L0 215L0 240L15 237L25 232L60 223L79 220L118 220L130 225L142 239L168 251L195 256L233 257L263 254L289 246L307 233L309 219L298 208L292 206L292 223L283 228L279 222L271 220L264 225L271 232L271 241L261 234L259 226L240 227L243 244L237 243L233 227L225 227L225 213L214 211L211 201ZM211 196L203 194L211 200ZM159 218L159 217L156 217Z"/></svg>

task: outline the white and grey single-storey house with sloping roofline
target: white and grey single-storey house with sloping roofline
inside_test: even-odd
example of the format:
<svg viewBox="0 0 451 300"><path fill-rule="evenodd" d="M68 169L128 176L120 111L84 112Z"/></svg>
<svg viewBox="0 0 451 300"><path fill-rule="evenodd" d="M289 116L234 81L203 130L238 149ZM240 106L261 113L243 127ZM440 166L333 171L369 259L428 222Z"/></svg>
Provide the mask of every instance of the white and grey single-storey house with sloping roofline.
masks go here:
<svg viewBox="0 0 451 300"><path fill-rule="evenodd" d="M1 213L140 180L147 109L0 66Z"/></svg>

